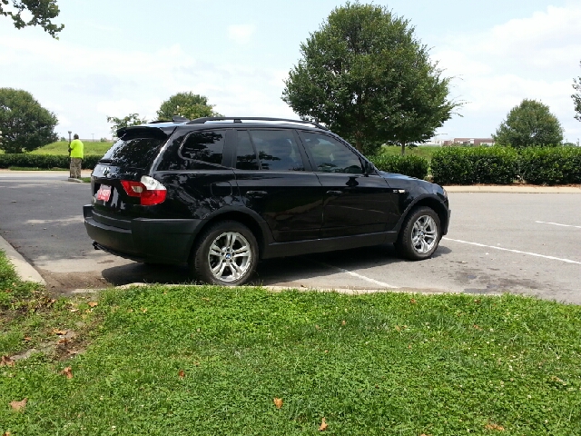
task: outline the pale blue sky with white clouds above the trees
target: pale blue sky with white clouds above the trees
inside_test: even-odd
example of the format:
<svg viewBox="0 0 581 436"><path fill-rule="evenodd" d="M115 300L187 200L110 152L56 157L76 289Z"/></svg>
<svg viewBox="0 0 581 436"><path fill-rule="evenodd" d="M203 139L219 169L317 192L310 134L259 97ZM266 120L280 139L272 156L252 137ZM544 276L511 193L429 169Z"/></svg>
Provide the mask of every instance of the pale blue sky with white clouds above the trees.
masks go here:
<svg viewBox="0 0 581 436"><path fill-rule="evenodd" d="M438 139L490 137L523 99L547 104L581 138L573 79L581 76L581 0L374 1L409 20L464 102ZM0 17L0 87L24 89L56 114L59 136L110 138L107 116L156 119L178 92L227 116L298 118L282 102L300 44L333 0L58 0L54 40Z"/></svg>

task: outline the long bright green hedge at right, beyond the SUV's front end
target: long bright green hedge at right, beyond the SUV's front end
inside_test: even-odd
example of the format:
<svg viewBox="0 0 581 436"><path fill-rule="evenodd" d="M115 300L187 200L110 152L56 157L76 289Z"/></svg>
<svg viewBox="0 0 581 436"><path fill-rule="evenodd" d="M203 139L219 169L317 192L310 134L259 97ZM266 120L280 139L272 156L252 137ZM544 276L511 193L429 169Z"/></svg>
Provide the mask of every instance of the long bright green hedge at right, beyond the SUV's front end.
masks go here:
<svg viewBox="0 0 581 436"><path fill-rule="evenodd" d="M431 159L439 184L581 183L581 148L447 147Z"/></svg>

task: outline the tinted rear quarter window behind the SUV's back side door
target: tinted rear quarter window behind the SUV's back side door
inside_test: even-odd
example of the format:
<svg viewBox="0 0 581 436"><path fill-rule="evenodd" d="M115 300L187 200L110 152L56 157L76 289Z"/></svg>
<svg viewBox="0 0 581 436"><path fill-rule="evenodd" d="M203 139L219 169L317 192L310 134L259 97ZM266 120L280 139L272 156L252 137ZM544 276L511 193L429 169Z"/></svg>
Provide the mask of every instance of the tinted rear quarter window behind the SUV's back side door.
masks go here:
<svg viewBox="0 0 581 436"><path fill-rule="evenodd" d="M225 136L224 131L220 130L206 130L189 134L178 152L184 161L183 169L212 169L211 165L203 163L222 165Z"/></svg>

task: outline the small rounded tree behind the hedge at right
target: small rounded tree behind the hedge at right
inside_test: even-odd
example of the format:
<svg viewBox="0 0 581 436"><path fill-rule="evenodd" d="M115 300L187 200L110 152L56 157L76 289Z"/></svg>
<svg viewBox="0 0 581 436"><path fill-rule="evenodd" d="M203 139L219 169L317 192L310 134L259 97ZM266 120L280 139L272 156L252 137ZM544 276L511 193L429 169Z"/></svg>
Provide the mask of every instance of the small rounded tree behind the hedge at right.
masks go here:
<svg viewBox="0 0 581 436"><path fill-rule="evenodd" d="M547 104L537 100L523 100L507 114L507 119L493 134L495 144L515 148L536 145L556 146L563 141L563 127L551 114Z"/></svg>

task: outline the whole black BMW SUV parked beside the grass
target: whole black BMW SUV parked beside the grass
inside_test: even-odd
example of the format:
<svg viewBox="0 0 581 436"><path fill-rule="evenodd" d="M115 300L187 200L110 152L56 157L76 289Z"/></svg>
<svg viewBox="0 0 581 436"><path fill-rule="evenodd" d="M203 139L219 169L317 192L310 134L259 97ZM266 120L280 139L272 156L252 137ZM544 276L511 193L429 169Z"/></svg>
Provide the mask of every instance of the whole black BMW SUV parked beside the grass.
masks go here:
<svg viewBox="0 0 581 436"><path fill-rule="evenodd" d="M247 282L259 259L395 243L428 258L448 231L438 184L378 171L320 124L176 117L118 131L84 225L102 249Z"/></svg>

